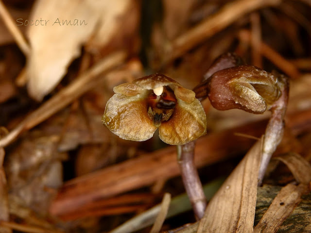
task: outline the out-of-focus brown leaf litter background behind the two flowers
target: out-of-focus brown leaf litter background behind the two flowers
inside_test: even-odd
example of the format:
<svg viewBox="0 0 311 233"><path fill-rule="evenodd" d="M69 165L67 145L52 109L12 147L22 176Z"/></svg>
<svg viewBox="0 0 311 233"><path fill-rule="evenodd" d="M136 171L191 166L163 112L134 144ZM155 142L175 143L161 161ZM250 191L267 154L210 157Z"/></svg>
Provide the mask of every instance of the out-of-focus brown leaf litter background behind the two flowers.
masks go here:
<svg viewBox="0 0 311 233"><path fill-rule="evenodd" d="M311 160L309 0L0 3L0 219L11 224L4 231L22 224L29 228L21 232L108 232L165 192L184 193L174 147L156 133L145 142L122 140L101 117L114 86L159 72L192 89L226 52L289 77L276 154ZM269 112L202 105L208 129L196 160L207 184L230 174L256 141L251 137L264 132ZM281 166L266 183L293 179ZM194 221L185 207L163 230Z"/></svg>

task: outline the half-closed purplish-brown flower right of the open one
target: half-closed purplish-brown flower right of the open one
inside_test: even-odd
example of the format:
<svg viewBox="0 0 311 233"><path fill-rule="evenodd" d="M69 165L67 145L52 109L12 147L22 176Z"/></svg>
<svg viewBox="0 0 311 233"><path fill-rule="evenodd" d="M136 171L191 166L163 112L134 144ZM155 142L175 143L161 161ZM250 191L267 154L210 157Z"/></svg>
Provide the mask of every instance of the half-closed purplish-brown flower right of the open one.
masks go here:
<svg viewBox="0 0 311 233"><path fill-rule="evenodd" d="M193 90L198 99L208 96L218 110L238 108L262 114L281 95L278 76L258 67L240 65L218 70Z"/></svg>

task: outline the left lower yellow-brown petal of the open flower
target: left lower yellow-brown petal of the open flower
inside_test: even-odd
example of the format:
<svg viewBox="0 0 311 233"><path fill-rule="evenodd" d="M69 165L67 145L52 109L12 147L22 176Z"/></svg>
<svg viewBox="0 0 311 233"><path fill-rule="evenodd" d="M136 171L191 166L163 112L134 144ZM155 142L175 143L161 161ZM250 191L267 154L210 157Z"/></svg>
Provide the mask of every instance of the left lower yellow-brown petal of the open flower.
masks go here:
<svg viewBox="0 0 311 233"><path fill-rule="evenodd" d="M156 130L147 108L147 101L139 95L128 97L117 93L108 100L102 120L112 133L123 139L145 141Z"/></svg>

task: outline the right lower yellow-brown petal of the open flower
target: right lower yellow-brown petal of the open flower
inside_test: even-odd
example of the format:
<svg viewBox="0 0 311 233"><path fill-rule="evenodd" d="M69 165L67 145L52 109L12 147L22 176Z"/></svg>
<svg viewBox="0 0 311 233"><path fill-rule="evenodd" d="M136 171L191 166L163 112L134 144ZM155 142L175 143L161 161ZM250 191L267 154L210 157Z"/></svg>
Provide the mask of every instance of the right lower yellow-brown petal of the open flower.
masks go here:
<svg viewBox="0 0 311 233"><path fill-rule="evenodd" d="M187 103L177 99L172 117L159 127L160 139L171 145L183 145L206 133L206 114L199 100Z"/></svg>

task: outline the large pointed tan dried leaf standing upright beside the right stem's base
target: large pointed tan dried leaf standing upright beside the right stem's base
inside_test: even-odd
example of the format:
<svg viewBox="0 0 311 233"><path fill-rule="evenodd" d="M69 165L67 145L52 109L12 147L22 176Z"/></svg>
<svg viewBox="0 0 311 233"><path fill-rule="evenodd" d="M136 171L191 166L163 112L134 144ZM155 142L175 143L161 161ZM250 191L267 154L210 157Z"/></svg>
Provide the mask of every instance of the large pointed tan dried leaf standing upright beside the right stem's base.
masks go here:
<svg viewBox="0 0 311 233"><path fill-rule="evenodd" d="M253 231L260 151L261 140L248 151L209 202L198 233Z"/></svg>

